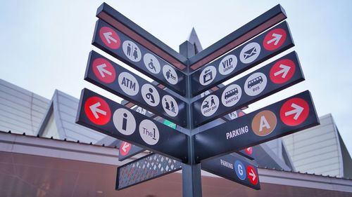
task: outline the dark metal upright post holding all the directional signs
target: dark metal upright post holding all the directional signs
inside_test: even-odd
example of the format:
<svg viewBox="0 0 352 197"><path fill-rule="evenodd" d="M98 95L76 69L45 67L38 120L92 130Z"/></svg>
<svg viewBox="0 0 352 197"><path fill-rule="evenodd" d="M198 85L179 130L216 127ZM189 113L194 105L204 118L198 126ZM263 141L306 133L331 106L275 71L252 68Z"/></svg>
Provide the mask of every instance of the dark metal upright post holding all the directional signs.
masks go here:
<svg viewBox="0 0 352 197"><path fill-rule="evenodd" d="M194 45L185 41L180 45L180 53L184 57L192 57L196 54ZM201 164L194 160L194 139L192 137L193 118L191 111L191 80L190 68L187 67L187 119L188 119L188 163L182 163L182 193L184 197L201 197Z"/></svg>

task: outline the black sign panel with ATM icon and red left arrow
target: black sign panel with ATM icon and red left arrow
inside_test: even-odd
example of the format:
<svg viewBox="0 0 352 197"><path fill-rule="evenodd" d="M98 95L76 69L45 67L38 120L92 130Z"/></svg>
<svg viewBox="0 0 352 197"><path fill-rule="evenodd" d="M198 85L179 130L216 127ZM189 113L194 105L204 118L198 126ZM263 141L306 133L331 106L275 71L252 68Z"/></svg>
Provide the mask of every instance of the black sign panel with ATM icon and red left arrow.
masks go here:
<svg viewBox="0 0 352 197"><path fill-rule="evenodd" d="M186 104L95 51L89 53L85 80L154 114L186 126Z"/></svg>

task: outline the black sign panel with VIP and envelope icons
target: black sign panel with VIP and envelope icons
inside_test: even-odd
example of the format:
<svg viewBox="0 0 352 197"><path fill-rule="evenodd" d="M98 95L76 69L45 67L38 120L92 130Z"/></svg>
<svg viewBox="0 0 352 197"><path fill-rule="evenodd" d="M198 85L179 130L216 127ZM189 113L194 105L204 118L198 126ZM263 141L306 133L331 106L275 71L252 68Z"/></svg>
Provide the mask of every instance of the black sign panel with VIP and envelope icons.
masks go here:
<svg viewBox="0 0 352 197"><path fill-rule="evenodd" d="M294 46L287 22L282 22L235 48L191 75L192 95L232 78Z"/></svg>

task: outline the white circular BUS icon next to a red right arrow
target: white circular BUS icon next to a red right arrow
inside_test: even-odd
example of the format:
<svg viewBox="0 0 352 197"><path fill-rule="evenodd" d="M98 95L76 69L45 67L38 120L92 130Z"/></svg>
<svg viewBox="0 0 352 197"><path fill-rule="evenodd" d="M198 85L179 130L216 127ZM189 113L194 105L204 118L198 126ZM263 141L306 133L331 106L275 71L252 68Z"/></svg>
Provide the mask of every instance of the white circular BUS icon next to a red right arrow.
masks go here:
<svg viewBox="0 0 352 197"><path fill-rule="evenodd" d="M259 95L265 89L267 82L265 74L256 72L251 74L244 83L244 91L250 96Z"/></svg>

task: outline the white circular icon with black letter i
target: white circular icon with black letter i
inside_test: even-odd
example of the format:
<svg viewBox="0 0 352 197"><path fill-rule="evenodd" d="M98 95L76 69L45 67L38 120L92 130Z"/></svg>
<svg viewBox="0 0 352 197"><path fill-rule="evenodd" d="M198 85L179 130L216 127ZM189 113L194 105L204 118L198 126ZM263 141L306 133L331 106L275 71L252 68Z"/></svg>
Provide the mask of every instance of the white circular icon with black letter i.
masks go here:
<svg viewBox="0 0 352 197"><path fill-rule="evenodd" d="M116 109L113 113L113 125L118 132L123 135L131 135L136 130L136 120L130 111L127 109Z"/></svg>

